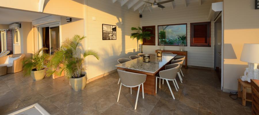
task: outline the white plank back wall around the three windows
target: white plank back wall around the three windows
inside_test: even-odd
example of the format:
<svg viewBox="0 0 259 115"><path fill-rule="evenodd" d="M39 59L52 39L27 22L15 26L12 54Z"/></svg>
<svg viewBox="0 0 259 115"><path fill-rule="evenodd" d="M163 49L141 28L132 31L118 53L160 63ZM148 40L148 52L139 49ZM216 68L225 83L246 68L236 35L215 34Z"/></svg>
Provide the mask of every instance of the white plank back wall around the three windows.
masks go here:
<svg viewBox="0 0 259 115"><path fill-rule="evenodd" d="M187 23L187 47L188 65L214 68L214 22L211 22L211 47L190 47L190 23L208 22L208 15L213 1L177 5L174 9L165 7L163 11L159 8L143 12L140 18L140 26L156 26L156 46L144 45L144 53L155 53L159 49L157 43L157 25ZM179 46L165 46L165 50L179 50Z"/></svg>

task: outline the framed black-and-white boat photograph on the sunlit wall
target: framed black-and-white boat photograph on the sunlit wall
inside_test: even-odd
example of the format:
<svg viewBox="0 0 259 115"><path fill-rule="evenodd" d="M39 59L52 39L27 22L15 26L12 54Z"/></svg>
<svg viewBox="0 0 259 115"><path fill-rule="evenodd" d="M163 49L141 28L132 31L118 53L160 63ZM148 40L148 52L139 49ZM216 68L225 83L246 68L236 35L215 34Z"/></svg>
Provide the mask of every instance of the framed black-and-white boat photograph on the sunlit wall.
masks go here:
<svg viewBox="0 0 259 115"><path fill-rule="evenodd" d="M102 24L102 40L116 40L116 26Z"/></svg>

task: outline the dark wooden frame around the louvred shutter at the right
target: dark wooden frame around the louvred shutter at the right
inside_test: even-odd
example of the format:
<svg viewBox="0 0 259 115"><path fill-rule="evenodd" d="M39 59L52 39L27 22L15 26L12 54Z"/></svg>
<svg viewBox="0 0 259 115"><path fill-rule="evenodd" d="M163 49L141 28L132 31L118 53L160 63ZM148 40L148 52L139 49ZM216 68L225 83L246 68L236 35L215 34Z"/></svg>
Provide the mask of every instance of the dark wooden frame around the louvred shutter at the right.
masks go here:
<svg viewBox="0 0 259 115"><path fill-rule="evenodd" d="M209 28L207 28L207 34L209 35L209 37L207 37L207 43L193 43L193 25L198 25L198 24L206 24L209 26ZM211 22L190 23L190 46L191 47L211 47Z"/></svg>

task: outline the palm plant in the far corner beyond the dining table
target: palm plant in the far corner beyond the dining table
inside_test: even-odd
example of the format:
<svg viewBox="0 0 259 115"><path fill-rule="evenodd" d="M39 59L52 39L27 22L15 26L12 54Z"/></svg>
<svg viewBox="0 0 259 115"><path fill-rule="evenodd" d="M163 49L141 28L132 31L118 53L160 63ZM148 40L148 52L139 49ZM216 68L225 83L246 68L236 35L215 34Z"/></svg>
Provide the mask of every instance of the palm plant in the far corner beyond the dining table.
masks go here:
<svg viewBox="0 0 259 115"><path fill-rule="evenodd" d="M135 33L132 33L130 38L132 39L137 39L137 44L138 44L138 41L140 40L141 42L141 53L143 53L142 51L142 44L143 44L143 40L146 39L146 40L149 40L151 39L150 37L151 36L154 36L153 34L150 34L150 32L146 31L146 30L152 30L152 28L146 28L144 30L142 30L142 28L138 27L138 28L135 28L135 27L132 27L131 30L136 30Z"/></svg>

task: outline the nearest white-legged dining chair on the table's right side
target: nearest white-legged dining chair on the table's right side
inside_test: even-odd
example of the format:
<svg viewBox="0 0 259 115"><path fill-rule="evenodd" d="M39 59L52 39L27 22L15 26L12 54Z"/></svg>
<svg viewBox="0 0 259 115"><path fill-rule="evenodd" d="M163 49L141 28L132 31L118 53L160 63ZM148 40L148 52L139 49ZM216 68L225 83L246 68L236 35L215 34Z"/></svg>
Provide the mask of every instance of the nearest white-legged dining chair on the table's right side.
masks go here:
<svg viewBox="0 0 259 115"><path fill-rule="evenodd" d="M170 64L170 65L165 66L166 70L159 72L159 76L156 76L156 93L157 93L157 78L159 78L159 88L160 88L160 80L163 79L166 81L173 99L175 99L173 91L172 91L168 81L173 81L174 87L175 87L176 91L178 91L179 87L178 87L178 84L177 84L175 78L176 78L176 74L178 72L179 67L180 67L180 64ZM177 85L177 87L176 87L176 85Z"/></svg>

